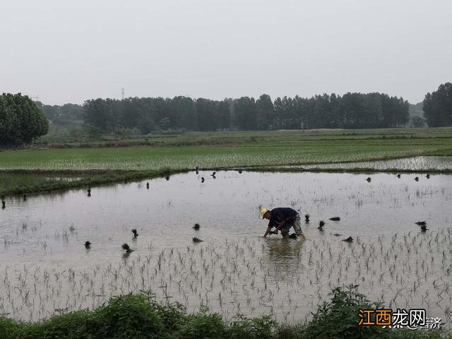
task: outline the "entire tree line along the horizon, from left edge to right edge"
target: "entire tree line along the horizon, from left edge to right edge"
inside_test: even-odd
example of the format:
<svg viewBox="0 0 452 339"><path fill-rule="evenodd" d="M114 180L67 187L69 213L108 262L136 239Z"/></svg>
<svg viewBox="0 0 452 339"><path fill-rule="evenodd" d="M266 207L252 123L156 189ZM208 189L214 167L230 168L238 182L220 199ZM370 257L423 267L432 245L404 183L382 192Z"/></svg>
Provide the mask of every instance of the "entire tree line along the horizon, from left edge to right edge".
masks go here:
<svg viewBox="0 0 452 339"><path fill-rule="evenodd" d="M427 93L420 103L432 127L452 126L452 83ZM383 93L315 95L306 98L254 97L209 100L178 96L129 97L124 100L93 99L83 105L43 105L20 93L0 96L0 145L30 143L47 133L53 124L89 126L99 133L133 129L218 131L275 129L371 129L406 126L409 104L402 97ZM46 119L47 118L47 119ZM422 126L423 119L412 122Z"/></svg>

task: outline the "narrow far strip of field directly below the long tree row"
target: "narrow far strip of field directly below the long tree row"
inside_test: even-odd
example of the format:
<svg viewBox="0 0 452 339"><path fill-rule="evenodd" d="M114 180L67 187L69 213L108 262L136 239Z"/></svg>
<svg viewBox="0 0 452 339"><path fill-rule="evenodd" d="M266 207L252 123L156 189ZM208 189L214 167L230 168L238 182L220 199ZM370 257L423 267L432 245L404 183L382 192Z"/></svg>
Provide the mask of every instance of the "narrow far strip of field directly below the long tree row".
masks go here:
<svg viewBox="0 0 452 339"><path fill-rule="evenodd" d="M148 136L136 136L121 139L115 136L102 136L99 141L80 138L42 138L43 145L59 147L92 147L115 145L150 145L150 146L188 146L188 145L299 145L318 141L353 142L379 139L430 139L452 138L452 129L311 129L296 131L239 131L239 132L162 132ZM428 141L425 141L428 142ZM450 142L450 141L449 141Z"/></svg>

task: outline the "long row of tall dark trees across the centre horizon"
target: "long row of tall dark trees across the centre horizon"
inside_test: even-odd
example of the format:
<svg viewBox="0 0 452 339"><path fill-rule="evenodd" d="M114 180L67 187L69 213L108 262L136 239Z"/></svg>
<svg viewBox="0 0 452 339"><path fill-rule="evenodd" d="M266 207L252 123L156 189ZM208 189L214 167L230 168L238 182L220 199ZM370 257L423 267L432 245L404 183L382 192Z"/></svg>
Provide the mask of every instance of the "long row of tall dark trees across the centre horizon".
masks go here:
<svg viewBox="0 0 452 339"><path fill-rule="evenodd" d="M121 128L149 133L157 129L189 131L383 128L409 120L408 102L381 93L316 95L311 98L269 95L222 101L190 97L130 97L84 103L85 124L102 132Z"/></svg>

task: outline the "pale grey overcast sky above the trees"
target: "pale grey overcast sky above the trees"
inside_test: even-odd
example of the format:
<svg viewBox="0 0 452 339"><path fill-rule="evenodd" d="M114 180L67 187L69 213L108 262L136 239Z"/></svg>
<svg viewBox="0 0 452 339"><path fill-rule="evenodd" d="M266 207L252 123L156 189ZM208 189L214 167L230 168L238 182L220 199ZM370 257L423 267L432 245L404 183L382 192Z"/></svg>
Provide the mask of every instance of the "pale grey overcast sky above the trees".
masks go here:
<svg viewBox="0 0 452 339"><path fill-rule="evenodd" d="M383 92L452 81L451 0L0 2L0 93L95 97Z"/></svg>

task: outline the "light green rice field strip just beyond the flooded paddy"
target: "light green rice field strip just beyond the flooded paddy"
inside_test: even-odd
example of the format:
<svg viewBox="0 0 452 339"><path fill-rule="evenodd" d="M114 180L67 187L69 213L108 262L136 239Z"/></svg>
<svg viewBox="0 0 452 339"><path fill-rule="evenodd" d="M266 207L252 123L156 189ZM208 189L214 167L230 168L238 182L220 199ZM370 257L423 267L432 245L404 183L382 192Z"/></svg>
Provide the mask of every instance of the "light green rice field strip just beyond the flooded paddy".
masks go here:
<svg viewBox="0 0 452 339"><path fill-rule="evenodd" d="M1 169L191 169L351 162L450 153L451 145L338 144L71 148L0 153Z"/></svg>

